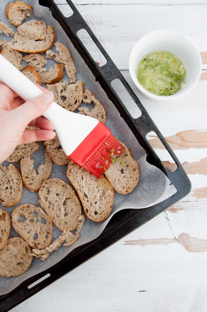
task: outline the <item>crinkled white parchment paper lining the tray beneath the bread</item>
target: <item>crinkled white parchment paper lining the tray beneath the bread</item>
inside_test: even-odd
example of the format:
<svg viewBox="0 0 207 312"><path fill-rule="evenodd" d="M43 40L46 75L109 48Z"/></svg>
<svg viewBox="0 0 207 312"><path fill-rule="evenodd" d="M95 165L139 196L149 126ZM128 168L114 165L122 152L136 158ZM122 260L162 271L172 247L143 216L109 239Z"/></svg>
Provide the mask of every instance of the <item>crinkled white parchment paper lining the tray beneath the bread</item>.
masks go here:
<svg viewBox="0 0 207 312"><path fill-rule="evenodd" d="M13 31L16 31L16 27L12 26L8 22L7 17L5 15L5 8L10 2L11 0L6 1L0 0L1 3L0 21L5 22L13 29ZM137 161L140 168L140 180L139 183L137 184L137 187L129 195L122 195L114 192L115 193L114 205L112 213L107 220L97 223L86 218L86 222L84 224L83 230L80 233L80 237L72 246L61 246L58 251L53 252L49 256L49 258L44 262L38 258L34 258L29 270L27 270L24 274L18 277L6 278L0 276L0 295L10 292L24 280L55 265L55 263L59 262L66 255L68 255L70 251L72 251L75 247L80 246L98 237L100 233L103 231L103 229L106 227L110 218L117 211L124 208L135 208L135 209L146 208L156 203L162 202L166 198L176 193L176 189L173 185L170 185L171 182L169 181L169 179L158 168L147 163L146 161L147 155L145 150L139 145L137 139L134 137L131 130L128 128L128 125L120 117L118 110L115 108L113 103L108 99L107 95L105 94L99 83L95 81L93 74L86 66L79 53L75 50L74 46L66 36L63 29L60 27L59 23L52 17L49 9L46 7L41 7L38 4L37 0L35 1L27 0L26 2L33 6L33 13L31 14L30 18L27 18L26 21L34 18L45 21L47 25L51 25L52 27L55 28L57 34L56 41L64 43L70 50L71 56L75 61L75 66L77 69L76 81L79 80L84 81L85 89L88 88L89 90L91 90L104 105L107 112L106 126L110 128L112 133L116 137L118 137L118 139L123 141L132 151L132 155L134 159ZM5 35L0 34L0 39L10 41L11 37L6 37ZM55 51L55 46L52 47L52 50ZM49 69L53 65L53 63L55 63L55 61L47 60L46 64L47 69ZM24 61L22 61L22 64L24 66L27 65ZM64 76L64 79L68 80L66 74ZM44 162L44 147L42 143L40 143L40 148L34 154L32 154L31 157L35 159L35 168L38 168L38 166L42 162ZM8 164L9 163L7 162L3 163L3 165ZM14 163L14 165L19 169L19 163ZM63 181L69 183L66 177L66 169L67 166L57 166L53 163L51 178L60 178ZM6 210L11 216L13 209L23 203L32 203L35 205L39 204L38 193L32 193L28 191L26 188L24 188L21 202L19 202L18 205L12 208L4 208L2 206L0 207ZM58 237L60 233L61 233L60 230L58 230L56 227L53 226L53 235L52 235L53 240L56 237ZM11 226L10 237L14 236L19 235L14 231L14 229Z"/></svg>

